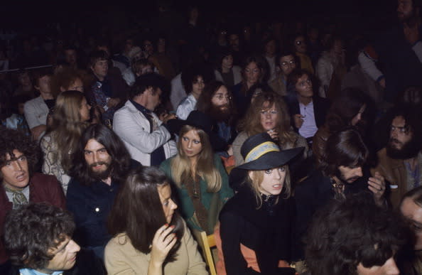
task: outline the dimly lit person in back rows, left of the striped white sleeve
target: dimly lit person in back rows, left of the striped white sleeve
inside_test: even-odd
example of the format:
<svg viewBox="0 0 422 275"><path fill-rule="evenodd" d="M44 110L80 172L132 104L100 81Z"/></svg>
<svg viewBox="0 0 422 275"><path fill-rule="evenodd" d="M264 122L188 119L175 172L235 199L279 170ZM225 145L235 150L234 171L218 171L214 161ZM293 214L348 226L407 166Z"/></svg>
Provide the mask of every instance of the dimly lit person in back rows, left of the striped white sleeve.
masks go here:
<svg viewBox="0 0 422 275"><path fill-rule="evenodd" d="M342 78L347 72L344 43L340 36L332 36L325 47L327 50L318 60L315 75L320 80L320 97L335 99L337 92L340 92Z"/></svg>

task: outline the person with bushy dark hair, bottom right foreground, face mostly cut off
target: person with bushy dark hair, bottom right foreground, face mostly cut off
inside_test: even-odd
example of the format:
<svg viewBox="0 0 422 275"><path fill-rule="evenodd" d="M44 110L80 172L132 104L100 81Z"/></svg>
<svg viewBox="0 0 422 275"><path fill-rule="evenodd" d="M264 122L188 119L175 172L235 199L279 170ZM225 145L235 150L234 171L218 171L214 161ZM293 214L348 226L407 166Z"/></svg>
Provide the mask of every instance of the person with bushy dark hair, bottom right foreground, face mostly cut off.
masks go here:
<svg viewBox="0 0 422 275"><path fill-rule="evenodd" d="M312 275L398 275L396 252L407 232L399 216L373 200L332 200L310 225L306 263Z"/></svg>

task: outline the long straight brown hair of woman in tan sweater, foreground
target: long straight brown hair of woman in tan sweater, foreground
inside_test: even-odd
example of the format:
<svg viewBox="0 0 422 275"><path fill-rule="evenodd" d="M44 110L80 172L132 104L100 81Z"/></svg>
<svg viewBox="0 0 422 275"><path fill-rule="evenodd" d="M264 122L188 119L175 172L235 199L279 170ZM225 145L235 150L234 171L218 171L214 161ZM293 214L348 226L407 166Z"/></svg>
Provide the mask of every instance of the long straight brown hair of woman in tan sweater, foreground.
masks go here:
<svg viewBox="0 0 422 275"><path fill-rule="evenodd" d="M158 194L158 188L167 185L169 180L166 174L156 167L140 166L131 171L110 212L110 234L125 233L136 250L150 253L154 235L158 228L167 223ZM170 225L175 226L173 233L178 239L168 253L166 262L175 260L175 252L180 247L184 233L183 220L177 212L174 212Z"/></svg>

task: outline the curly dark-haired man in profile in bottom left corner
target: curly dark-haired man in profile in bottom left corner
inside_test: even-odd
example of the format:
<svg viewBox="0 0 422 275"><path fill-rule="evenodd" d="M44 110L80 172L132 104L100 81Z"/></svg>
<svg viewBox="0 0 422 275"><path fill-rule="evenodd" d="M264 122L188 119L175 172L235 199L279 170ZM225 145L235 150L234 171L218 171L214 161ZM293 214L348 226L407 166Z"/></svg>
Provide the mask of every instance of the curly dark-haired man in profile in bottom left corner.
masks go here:
<svg viewBox="0 0 422 275"><path fill-rule="evenodd" d="M11 263L9 275L102 275L102 262L72 239L70 213L44 203L24 205L6 217L4 239Z"/></svg>

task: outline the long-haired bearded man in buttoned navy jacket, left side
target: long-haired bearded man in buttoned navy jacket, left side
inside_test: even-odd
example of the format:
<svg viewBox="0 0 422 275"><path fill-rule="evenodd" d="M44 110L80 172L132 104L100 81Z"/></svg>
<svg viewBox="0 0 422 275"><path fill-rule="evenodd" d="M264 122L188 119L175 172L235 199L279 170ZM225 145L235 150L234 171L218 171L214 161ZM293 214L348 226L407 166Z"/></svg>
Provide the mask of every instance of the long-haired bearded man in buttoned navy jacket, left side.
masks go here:
<svg viewBox="0 0 422 275"><path fill-rule="evenodd" d="M72 158L66 205L75 217L75 240L103 258L111 238L106 221L114 197L130 168L139 163L131 161L119 137L102 124L82 133Z"/></svg>

